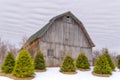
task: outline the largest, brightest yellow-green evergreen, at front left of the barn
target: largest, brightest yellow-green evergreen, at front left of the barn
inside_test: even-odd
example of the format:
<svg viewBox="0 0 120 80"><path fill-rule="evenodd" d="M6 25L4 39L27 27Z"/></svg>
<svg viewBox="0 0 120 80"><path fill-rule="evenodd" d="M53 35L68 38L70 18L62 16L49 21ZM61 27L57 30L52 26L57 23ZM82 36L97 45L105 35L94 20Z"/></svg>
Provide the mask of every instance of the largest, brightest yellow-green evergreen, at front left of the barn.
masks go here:
<svg viewBox="0 0 120 80"><path fill-rule="evenodd" d="M34 75L34 63L29 52L26 50L19 52L12 74L17 77L30 77Z"/></svg>

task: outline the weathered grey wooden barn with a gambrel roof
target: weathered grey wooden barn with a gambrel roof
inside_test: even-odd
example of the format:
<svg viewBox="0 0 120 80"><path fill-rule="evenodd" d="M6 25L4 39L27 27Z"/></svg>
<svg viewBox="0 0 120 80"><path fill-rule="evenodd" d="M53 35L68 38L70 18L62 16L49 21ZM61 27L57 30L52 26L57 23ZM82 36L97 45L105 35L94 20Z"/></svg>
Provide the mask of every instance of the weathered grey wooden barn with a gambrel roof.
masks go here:
<svg viewBox="0 0 120 80"><path fill-rule="evenodd" d="M44 53L47 66L59 66L66 55L76 59L80 52L85 52L92 63L92 47L86 29L71 12L53 17L48 24L33 34L24 45L31 55L37 49Z"/></svg>

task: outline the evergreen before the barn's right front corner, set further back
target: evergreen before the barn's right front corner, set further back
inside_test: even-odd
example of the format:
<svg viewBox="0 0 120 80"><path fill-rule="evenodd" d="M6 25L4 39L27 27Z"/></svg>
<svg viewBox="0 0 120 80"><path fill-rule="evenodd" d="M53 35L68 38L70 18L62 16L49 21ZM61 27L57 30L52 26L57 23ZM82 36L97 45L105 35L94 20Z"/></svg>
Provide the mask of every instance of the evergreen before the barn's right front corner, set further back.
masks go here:
<svg viewBox="0 0 120 80"><path fill-rule="evenodd" d="M89 69L90 64L88 58L85 56L85 53L81 53L76 60L76 67L79 69Z"/></svg>

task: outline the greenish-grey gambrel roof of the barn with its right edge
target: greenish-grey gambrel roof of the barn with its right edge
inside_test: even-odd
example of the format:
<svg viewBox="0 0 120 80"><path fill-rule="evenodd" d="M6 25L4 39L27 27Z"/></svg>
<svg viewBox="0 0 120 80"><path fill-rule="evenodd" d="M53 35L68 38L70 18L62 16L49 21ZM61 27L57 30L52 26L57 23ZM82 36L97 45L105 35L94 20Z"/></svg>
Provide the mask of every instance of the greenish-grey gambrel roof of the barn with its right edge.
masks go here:
<svg viewBox="0 0 120 80"><path fill-rule="evenodd" d="M53 17L53 18L49 21L48 24L46 24L42 29L40 29L40 30L37 31L35 34L33 34L33 35L28 39L27 42L28 42L28 43L31 43L31 42L33 42L34 40L36 40L36 39L38 39L38 38L41 38L41 37L44 35L44 33L50 28L50 26L53 24L53 22L54 22L56 19L58 19L58 18L60 18L60 17L62 17L62 16L65 16L65 15L69 15L70 17L72 17L72 18L80 25L83 33L84 33L85 36L87 37L87 40L88 40L89 44L90 44L92 47L94 47L95 45L94 45L94 43L92 42L90 36L88 35L86 29L84 28L83 24L82 24L70 11L68 11L68 12L66 12L66 13L63 13L63 14L60 14L60 15L58 15L58 16Z"/></svg>

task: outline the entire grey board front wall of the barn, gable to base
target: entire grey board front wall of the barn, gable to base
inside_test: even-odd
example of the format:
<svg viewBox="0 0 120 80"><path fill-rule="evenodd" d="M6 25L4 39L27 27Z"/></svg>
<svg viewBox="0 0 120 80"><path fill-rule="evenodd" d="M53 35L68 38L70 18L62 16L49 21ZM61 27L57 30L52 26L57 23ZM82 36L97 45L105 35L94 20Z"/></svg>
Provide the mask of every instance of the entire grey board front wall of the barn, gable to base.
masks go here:
<svg viewBox="0 0 120 80"><path fill-rule="evenodd" d="M41 38L40 49L45 53L48 66L59 65L66 54L76 59L82 51L86 52L89 61L92 60L92 48L86 36L72 18L70 22L66 22L66 16L57 19L44 34ZM47 56L48 49L54 50L54 56Z"/></svg>

